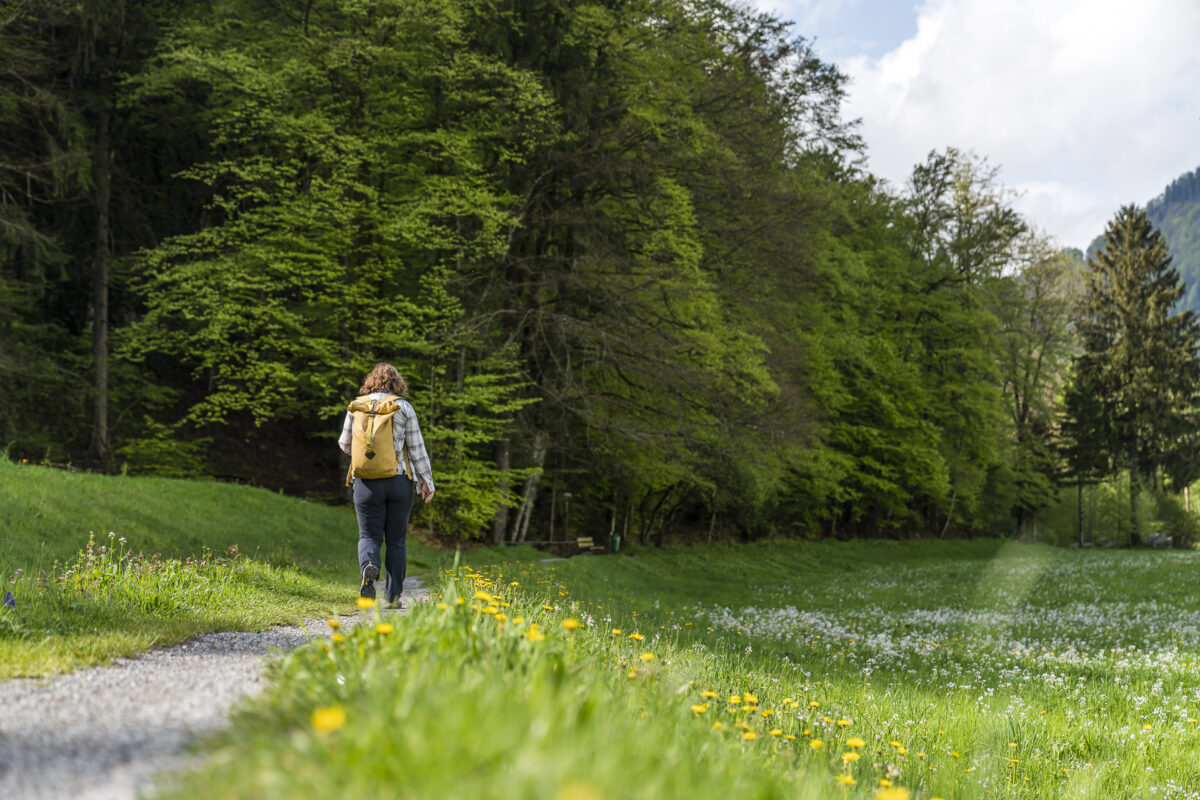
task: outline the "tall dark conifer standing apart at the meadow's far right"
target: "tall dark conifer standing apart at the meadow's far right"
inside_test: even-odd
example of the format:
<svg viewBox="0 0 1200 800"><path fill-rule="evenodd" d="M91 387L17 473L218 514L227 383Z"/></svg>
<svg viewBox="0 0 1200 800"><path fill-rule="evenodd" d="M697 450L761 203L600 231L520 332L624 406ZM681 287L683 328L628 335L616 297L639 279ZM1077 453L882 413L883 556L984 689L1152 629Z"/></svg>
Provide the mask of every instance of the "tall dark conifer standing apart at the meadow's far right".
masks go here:
<svg viewBox="0 0 1200 800"><path fill-rule="evenodd" d="M1106 447L1129 470L1132 545L1142 481L1196 429L1200 327L1190 311L1172 313L1182 294L1163 234L1144 210L1122 207L1088 261L1076 379L1092 387Z"/></svg>

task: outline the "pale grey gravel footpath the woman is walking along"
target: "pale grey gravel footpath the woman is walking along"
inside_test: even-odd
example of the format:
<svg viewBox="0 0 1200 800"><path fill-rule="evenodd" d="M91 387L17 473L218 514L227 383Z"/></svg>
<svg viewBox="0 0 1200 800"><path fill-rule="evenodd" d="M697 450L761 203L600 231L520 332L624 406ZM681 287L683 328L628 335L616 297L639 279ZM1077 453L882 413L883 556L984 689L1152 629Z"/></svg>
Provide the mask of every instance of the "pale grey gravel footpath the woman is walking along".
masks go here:
<svg viewBox="0 0 1200 800"><path fill-rule="evenodd" d="M406 602L427 597L404 581ZM396 612L404 613L404 612ZM350 626L358 616L343 616ZM110 667L0 684L0 798L128 800L187 764L185 745L263 688L263 667L328 632L324 620L263 633L203 633Z"/></svg>

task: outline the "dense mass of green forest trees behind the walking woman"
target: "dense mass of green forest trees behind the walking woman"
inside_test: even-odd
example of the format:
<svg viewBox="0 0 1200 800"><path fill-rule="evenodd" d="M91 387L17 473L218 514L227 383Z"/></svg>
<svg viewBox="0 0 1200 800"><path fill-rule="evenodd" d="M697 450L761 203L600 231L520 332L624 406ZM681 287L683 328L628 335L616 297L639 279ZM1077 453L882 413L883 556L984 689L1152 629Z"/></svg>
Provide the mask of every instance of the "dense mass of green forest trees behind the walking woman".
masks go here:
<svg viewBox="0 0 1200 800"><path fill-rule="evenodd" d="M520 506L546 539L568 492L576 527L628 519L659 543L994 534L1054 498L1074 267L983 158L932 152L904 191L864 172L846 77L770 14L724 0L14 13L0 30L13 453L82 463L101 236L109 427L131 473L332 499L338 417L388 361L430 444L438 499L416 515L439 535L512 539ZM48 385L70 398L55 429L26 411ZM1176 486L1200 470L1190 452L1163 457Z"/></svg>

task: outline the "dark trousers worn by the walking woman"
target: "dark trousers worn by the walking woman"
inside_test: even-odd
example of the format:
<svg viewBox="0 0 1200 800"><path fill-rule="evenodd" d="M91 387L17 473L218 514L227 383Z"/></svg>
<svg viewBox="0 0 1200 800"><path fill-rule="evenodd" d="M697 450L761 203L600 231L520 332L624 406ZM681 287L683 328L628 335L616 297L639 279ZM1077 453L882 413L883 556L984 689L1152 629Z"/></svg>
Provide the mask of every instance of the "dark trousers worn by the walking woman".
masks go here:
<svg viewBox="0 0 1200 800"><path fill-rule="evenodd" d="M359 572L367 564L382 566L388 602L404 588L408 516L413 512L415 483L404 475L354 479L354 512L359 517ZM386 546L383 564L379 551Z"/></svg>

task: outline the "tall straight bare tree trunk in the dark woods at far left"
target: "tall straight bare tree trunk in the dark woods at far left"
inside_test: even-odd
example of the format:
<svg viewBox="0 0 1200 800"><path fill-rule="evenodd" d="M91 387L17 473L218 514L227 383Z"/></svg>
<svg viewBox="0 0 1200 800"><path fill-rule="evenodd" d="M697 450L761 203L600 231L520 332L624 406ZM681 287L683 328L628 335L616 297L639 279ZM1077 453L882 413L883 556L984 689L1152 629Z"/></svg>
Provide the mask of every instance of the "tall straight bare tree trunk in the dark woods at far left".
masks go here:
<svg viewBox="0 0 1200 800"><path fill-rule="evenodd" d="M96 246L92 251L92 414L91 456L103 467L112 465L108 440L108 240L113 162L108 143L108 108L96 121L96 151L92 155L92 201L96 206Z"/></svg>

